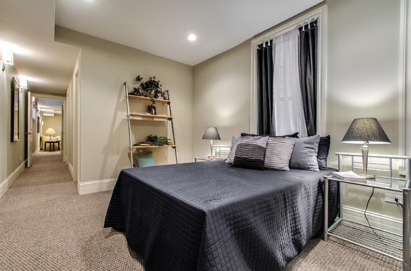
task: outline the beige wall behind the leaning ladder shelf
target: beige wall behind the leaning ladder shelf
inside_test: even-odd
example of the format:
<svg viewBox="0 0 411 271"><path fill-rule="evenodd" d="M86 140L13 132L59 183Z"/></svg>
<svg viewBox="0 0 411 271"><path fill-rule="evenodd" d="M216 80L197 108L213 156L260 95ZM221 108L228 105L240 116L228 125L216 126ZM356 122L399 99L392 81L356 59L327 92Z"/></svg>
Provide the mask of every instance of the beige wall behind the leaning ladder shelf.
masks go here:
<svg viewBox="0 0 411 271"><path fill-rule="evenodd" d="M162 87L170 90L179 159L192 160L191 66L62 27L56 27L55 40L82 50L78 112L80 182L116 178L129 165L123 83L128 81L132 87L136 75L145 79L155 75ZM174 162L171 151L169 162Z"/></svg>

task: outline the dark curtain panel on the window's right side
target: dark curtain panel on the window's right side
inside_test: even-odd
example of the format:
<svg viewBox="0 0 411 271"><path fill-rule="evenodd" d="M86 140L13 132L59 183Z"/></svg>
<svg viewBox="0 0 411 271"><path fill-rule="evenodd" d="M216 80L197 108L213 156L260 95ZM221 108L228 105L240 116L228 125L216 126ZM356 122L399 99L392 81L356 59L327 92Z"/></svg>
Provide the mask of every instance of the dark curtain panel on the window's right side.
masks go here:
<svg viewBox="0 0 411 271"><path fill-rule="evenodd" d="M299 27L299 71L308 136L316 135L318 21Z"/></svg>

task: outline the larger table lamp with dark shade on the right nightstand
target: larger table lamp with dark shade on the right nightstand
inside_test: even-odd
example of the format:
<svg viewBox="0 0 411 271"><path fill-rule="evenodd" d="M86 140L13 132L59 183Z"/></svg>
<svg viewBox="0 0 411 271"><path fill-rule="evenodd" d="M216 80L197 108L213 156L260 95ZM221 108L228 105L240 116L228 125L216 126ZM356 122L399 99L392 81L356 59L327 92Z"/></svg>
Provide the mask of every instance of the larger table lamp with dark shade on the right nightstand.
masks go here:
<svg viewBox="0 0 411 271"><path fill-rule="evenodd" d="M368 176L368 156L369 144L390 144L391 141L386 135L384 129L379 124L377 118L356 118L351 122L347 133L345 133L343 143L362 144L362 166L364 168L364 177L373 179Z"/></svg>

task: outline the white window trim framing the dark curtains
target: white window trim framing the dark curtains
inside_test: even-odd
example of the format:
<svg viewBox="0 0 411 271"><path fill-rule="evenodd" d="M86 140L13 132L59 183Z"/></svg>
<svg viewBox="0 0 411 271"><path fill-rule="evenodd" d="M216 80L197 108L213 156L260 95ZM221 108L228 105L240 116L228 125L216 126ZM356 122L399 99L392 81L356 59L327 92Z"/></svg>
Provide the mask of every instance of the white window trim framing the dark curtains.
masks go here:
<svg viewBox="0 0 411 271"><path fill-rule="evenodd" d="M270 40L274 36L281 35L286 31L294 29L298 25L303 25L310 22L313 18L318 18L319 20L319 73L318 73L318 97L317 100L317 133L325 133L325 122L326 122L326 108L327 104L327 11L328 6L322 5L315 10L295 18L294 20L269 31L258 38L251 40L251 105L250 105L250 132L257 132L257 57L256 50L258 44Z"/></svg>

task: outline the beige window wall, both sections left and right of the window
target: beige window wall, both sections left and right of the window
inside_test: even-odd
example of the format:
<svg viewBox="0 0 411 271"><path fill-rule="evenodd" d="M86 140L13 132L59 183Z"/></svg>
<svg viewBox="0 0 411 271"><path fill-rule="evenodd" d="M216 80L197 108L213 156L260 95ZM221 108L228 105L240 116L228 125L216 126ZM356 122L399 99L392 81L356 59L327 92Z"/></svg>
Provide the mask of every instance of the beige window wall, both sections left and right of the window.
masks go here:
<svg viewBox="0 0 411 271"><path fill-rule="evenodd" d="M337 166L336 151L360 152L360 146L340 142L353 118L377 118L393 142L371 145L370 153L399 154L399 108L403 102L399 88L400 0L330 0L327 4L325 129L332 138L329 165ZM194 67L195 155L208 154L208 143L201 140L206 126L219 127L222 140L215 144L227 144L232 135L249 131L250 50L247 41ZM358 193L349 192L347 205L364 207L368 196L359 198ZM370 210L382 208L382 202ZM386 214L399 213L395 205L384 208Z"/></svg>

